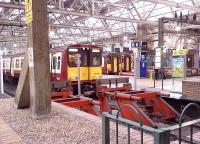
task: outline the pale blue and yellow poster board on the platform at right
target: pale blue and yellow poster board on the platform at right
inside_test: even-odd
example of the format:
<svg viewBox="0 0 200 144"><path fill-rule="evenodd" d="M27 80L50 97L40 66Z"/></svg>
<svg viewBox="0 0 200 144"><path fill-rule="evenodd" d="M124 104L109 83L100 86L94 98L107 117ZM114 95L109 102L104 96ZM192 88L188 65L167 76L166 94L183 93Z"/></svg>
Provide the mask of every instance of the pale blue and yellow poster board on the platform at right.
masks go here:
<svg viewBox="0 0 200 144"><path fill-rule="evenodd" d="M172 77L184 77L184 57L177 56L172 59Z"/></svg>

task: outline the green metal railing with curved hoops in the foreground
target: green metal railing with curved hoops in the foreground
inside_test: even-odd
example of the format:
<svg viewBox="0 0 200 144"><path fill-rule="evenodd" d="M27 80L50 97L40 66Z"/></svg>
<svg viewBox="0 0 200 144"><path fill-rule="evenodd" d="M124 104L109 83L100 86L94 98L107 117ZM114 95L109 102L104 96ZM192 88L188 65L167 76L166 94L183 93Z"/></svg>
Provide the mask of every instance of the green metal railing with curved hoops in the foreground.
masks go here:
<svg viewBox="0 0 200 144"><path fill-rule="evenodd" d="M116 130L116 143L117 144L119 143L119 140L118 140L119 139L119 133L118 133L119 124L127 126L127 132L128 132L128 139L127 139L128 142L127 143L128 144L130 144L130 142L131 142L131 139L130 139L130 129L131 128L140 130L140 143L141 144L143 144L143 142L144 142L143 133L152 135L154 144L170 144L170 132L172 132L174 130L178 130L178 141L179 141L179 144L181 144L181 142L182 142L181 128L188 127L188 126L190 127L189 143L193 144L193 125L200 123L200 118L183 123L183 116L185 115L185 112L192 106L195 106L196 108L198 108L200 110L200 106L198 104L195 104L195 103L188 104L184 108L184 110L182 111L182 113L180 115L179 124L170 126L170 127L166 127L166 128L152 128L152 127L143 125L138 111L134 107L132 107L131 105L128 105L128 104L125 104L122 107L120 107L120 109L117 112L117 115L112 115L110 113L103 113L102 114L102 144L110 144L110 123L111 123L111 121L113 121L116 125L115 130ZM133 112L136 113L139 123L119 117L119 113L124 107L129 107L130 109L133 110Z"/></svg>

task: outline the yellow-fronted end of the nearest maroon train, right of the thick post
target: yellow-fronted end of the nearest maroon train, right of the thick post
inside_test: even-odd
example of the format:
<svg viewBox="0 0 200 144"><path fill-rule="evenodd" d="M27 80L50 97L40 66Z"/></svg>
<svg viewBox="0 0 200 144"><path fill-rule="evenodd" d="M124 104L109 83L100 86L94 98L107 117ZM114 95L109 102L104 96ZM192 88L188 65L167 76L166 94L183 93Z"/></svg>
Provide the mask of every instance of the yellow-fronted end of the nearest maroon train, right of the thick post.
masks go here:
<svg viewBox="0 0 200 144"><path fill-rule="evenodd" d="M70 81L74 94L78 89L77 54L80 54L81 91L93 95L96 79L102 77L102 47L96 45L69 45L67 48L51 50L51 80ZM55 66L54 66L55 64ZM62 65L62 66L60 66Z"/></svg>

